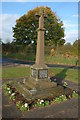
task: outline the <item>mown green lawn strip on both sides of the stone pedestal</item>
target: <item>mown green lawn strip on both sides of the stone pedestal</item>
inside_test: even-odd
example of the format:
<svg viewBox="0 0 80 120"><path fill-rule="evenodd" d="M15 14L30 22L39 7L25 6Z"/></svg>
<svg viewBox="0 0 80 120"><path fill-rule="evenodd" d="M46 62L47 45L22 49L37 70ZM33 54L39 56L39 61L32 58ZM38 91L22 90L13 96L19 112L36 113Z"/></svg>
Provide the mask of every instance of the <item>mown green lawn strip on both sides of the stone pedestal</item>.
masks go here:
<svg viewBox="0 0 80 120"><path fill-rule="evenodd" d="M78 82L78 70L64 68L50 68L50 76ZM30 76L30 67L9 67L2 69L2 78L19 78Z"/></svg>

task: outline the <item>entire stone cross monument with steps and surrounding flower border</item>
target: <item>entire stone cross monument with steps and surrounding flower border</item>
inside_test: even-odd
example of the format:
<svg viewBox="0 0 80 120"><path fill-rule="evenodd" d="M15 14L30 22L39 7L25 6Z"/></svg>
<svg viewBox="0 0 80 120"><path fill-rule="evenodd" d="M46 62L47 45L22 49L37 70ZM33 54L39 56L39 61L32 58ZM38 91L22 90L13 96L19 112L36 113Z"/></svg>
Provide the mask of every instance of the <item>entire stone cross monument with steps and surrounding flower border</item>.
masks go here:
<svg viewBox="0 0 80 120"><path fill-rule="evenodd" d="M49 68L44 62L44 17L47 15L44 9L38 14L39 28L37 29L36 61L31 66L31 75L20 79L9 80L3 85L10 99L22 111L34 107L44 107L51 103L66 101L77 93L64 86L63 81L55 82L49 77Z"/></svg>

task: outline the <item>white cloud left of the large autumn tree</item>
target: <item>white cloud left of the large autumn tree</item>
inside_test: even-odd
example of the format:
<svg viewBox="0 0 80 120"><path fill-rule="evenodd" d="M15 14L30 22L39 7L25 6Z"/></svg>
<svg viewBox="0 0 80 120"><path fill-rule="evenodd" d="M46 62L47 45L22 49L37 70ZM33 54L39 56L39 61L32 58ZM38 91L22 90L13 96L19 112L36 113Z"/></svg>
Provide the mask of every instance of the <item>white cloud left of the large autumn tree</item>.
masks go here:
<svg viewBox="0 0 80 120"><path fill-rule="evenodd" d="M18 19L20 15L18 14L0 14L0 37L4 42L6 42L7 39L12 41L13 39L13 32L12 27L16 24L16 19Z"/></svg>

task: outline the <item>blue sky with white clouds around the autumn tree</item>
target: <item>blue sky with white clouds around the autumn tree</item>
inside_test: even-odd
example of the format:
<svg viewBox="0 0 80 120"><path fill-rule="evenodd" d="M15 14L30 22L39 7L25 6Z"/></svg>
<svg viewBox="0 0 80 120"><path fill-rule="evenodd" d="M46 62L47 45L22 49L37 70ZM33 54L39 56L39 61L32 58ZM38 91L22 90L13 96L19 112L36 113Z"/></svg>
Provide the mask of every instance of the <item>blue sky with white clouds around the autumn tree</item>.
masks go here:
<svg viewBox="0 0 80 120"><path fill-rule="evenodd" d="M65 29L66 43L78 39L78 2L7 2L0 3L0 37L4 42L13 40L12 27L16 24L16 19L20 18L31 9L37 6L48 6L61 18ZM23 0L24 1L24 0ZM26 0L25 0L26 1ZM54 33L53 33L54 34Z"/></svg>

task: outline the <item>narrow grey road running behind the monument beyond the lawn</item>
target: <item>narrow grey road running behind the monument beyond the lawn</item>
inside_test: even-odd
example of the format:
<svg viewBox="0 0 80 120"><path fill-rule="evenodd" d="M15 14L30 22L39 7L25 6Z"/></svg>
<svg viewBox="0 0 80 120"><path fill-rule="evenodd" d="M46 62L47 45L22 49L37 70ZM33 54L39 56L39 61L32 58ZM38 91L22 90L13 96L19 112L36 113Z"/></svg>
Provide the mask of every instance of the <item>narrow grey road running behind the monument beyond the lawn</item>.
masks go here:
<svg viewBox="0 0 80 120"><path fill-rule="evenodd" d="M32 61L21 61L21 60L14 60L9 58L2 59L2 66L11 66L11 65L33 65L35 62ZM80 69L80 66L69 66L69 65L59 65L59 64L47 64L48 67L57 67L57 68L71 68L71 69Z"/></svg>

